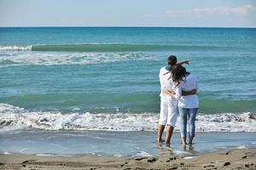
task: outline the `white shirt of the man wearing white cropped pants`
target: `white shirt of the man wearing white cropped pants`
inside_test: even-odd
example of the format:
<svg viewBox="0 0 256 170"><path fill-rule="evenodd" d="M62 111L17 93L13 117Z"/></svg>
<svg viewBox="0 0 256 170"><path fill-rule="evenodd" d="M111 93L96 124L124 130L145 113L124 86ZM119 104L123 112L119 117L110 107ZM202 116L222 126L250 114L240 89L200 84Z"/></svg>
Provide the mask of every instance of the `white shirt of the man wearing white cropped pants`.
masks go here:
<svg viewBox="0 0 256 170"><path fill-rule="evenodd" d="M168 72L168 73L165 74L166 72ZM178 87L175 86L175 84L172 82L171 72L167 71L166 67L162 67L160 69L159 79L160 79L160 90L161 90L160 97L161 97L161 99L170 100L170 101L177 103L177 100L180 98L181 93L182 93L181 86L180 85ZM175 99L172 99L172 97L168 94L164 94L163 93L164 88L167 88L172 93L174 92Z"/></svg>

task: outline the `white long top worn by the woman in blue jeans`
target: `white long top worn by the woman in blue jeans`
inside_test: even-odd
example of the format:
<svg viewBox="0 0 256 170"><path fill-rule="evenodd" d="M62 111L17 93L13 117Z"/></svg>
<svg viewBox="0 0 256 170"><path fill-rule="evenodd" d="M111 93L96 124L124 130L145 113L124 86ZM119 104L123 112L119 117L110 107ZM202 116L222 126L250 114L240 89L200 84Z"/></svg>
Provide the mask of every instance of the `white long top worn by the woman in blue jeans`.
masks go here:
<svg viewBox="0 0 256 170"><path fill-rule="evenodd" d="M181 88L182 91L188 92L193 89L196 89L196 93L198 93L198 81L195 74L190 73L188 76L186 76L186 79L181 82ZM198 96L195 95L187 95L187 96L181 96L181 98L178 101L178 106L183 108L198 108Z"/></svg>

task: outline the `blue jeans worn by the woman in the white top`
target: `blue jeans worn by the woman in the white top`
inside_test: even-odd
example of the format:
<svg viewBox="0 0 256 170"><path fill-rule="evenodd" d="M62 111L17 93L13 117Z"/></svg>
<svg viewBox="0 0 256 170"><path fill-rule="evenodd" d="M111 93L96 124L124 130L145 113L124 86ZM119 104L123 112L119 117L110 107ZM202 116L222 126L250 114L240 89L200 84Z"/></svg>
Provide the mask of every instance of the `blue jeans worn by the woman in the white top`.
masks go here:
<svg viewBox="0 0 256 170"><path fill-rule="evenodd" d="M195 116L197 109L198 108L187 109L178 107L181 137L185 137L187 134L187 120L189 120L189 137L195 137Z"/></svg>

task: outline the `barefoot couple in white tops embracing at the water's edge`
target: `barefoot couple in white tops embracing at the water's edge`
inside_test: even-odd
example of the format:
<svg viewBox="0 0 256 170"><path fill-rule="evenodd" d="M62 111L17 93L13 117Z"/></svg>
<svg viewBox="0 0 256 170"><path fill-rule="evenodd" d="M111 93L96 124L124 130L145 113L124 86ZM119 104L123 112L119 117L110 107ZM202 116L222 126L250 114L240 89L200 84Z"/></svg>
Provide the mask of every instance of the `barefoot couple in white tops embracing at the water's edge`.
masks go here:
<svg viewBox="0 0 256 170"><path fill-rule="evenodd" d="M177 57L171 55L168 65L160 69L160 121L158 126L158 142L164 142L162 133L166 127L166 146L170 147L170 139L180 115L180 133L182 144L186 143L187 121L189 122L189 144L195 137L195 116L198 109L197 77L182 66L188 60L177 63ZM177 111L178 110L178 111Z"/></svg>

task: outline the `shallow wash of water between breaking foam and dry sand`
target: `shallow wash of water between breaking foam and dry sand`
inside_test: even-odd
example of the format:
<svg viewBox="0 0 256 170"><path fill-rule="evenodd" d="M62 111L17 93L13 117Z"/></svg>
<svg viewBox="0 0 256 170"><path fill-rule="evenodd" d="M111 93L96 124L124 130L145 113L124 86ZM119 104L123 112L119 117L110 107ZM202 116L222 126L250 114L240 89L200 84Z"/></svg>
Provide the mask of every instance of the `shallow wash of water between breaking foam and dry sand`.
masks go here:
<svg viewBox="0 0 256 170"><path fill-rule="evenodd" d="M256 133L196 133L195 144L183 150L179 133L171 149L156 143L156 132L16 130L0 133L1 153L38 155L162 156L196 155L214 150L246 149L256 145Z"/></svg>

